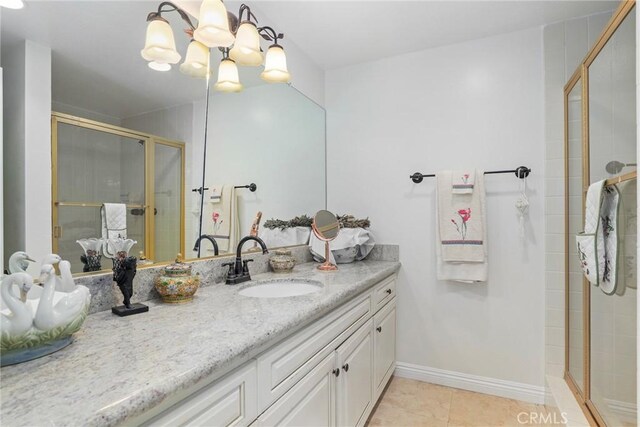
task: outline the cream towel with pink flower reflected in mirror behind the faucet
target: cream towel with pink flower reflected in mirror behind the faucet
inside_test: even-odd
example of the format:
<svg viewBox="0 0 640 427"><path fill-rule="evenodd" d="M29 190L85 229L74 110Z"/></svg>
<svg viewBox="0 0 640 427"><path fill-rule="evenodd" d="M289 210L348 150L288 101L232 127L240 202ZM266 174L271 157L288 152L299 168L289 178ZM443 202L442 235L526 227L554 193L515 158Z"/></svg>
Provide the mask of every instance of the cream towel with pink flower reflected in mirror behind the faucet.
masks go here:
<svg viewBox="0 0 640 427"><path fill-rule="evenodd" d="M236 249L240 236L236 189L230 184L209 188L221 188L222 195L219 199L205 198L202 234L212 235L220 252L232 252Z"/></svg>

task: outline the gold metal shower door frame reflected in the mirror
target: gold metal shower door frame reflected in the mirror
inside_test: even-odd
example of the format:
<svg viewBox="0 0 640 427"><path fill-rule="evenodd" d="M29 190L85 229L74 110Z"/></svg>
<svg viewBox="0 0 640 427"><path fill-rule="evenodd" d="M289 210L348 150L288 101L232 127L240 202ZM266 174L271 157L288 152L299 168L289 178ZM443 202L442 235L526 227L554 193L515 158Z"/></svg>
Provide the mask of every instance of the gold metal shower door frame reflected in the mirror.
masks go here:
<svg viewBox="0 0 640 427"><path fill-rule="evenodd" d="M143 133L119 126L101 123L95 120L89 120L69 114L51 113L51 238L53 244L53 252L57 253L59 249L59 238L61 230L58 226L59 206L78 206L78 207L100 207L99 203L82 203L82 202L60 202L58 200L58 124L64 123L72 126L78 126L85 129L91 129L99 132L105 132L112 135L140 139L144 141L144 194L145 202L143 205L127 205L127 208L143 208L145 210L144 220L144 246L145 256L155 260L155 148L156 144L165 145L180 150L181 171L180 171L180 253L185 253L185 144L180 141L172 141L159 136Z"/></svg>

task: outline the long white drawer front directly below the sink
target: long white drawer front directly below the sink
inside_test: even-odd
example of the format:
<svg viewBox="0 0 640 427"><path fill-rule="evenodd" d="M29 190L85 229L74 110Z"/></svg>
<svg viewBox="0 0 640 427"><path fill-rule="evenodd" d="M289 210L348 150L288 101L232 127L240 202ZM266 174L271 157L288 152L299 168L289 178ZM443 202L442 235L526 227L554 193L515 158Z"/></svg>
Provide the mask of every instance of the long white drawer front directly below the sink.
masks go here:
<svg viewBox="0 0 640 427"><path fill-rule="evenodd" d="M268 408L370 317L367 293L258 356L258 410Z"/></svg>

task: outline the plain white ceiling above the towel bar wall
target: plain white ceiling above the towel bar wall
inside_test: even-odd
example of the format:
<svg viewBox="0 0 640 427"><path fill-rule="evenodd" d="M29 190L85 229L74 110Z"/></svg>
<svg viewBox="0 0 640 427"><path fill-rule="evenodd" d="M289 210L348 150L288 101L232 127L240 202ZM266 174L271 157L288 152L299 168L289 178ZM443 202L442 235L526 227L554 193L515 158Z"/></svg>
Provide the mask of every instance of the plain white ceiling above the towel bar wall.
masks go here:
<svg viewBox="0 0 640 427"><path fill-rule="evenodd" d="M268 21L325 70L610 11L618 3L618 0L257 2Z"/></svg>

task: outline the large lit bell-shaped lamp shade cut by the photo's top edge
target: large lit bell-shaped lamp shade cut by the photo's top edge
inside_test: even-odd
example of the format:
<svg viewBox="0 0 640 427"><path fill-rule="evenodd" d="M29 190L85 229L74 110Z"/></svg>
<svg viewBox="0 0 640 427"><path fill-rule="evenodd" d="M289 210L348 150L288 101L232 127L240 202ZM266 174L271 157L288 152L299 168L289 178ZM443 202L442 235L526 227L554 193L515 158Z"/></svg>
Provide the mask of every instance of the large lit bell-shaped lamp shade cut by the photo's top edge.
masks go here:
<svg viewBox="0 0 640 427"><path fill-rule="evenodd" d="M229 47L233 44L227 8L220 0L202 2L198 28L193 32L193 38L207 47Z"/></svg>

